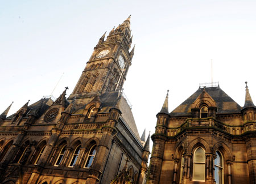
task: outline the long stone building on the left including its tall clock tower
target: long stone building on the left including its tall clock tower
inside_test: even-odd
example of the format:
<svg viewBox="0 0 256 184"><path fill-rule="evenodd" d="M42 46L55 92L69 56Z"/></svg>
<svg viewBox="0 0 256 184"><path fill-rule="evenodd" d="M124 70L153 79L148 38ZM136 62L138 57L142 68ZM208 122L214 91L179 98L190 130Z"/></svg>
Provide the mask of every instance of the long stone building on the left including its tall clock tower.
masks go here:
<svg viewBox="0 0 256 184"><path fill-rule="evenodd" d="M131 41L129 17L100 38L67 99L68 88L0 115L1 183L110 183L124 166L130 182L145 181L149 138L122 94Z"/></svg>

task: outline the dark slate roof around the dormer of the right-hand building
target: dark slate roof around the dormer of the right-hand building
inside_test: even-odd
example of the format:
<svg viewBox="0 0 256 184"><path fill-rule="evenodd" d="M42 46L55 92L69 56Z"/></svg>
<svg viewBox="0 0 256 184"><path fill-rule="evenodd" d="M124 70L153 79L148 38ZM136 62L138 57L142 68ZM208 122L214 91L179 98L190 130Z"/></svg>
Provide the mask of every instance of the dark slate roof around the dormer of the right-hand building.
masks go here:
<svg viewBox="0 0 256 184"><path fill-rule="evenodd" d="M182 104L177 106L170 115L171 116L183 116L191 115L191 104L197 99L197 97L203 92L204 88L199 88L193 95L191 95ZM240 113L241 106L237 104L231 97L229 97L220 87L205 88L205 91L216 101L217 113Z"/></svg>

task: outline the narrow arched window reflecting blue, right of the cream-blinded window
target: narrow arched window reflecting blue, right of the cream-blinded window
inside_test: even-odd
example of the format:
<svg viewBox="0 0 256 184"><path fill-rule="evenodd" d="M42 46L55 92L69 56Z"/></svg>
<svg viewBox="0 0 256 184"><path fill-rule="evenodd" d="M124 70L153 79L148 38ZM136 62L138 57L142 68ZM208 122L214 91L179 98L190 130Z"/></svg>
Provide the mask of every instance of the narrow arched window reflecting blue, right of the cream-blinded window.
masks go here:
<svg viewBox="0 0 256 184"><path fill-rule="evenodd" d="M217 158L214 160L214 179L216 184L223 183L223 157L219 151L216 152Z"/></svg>

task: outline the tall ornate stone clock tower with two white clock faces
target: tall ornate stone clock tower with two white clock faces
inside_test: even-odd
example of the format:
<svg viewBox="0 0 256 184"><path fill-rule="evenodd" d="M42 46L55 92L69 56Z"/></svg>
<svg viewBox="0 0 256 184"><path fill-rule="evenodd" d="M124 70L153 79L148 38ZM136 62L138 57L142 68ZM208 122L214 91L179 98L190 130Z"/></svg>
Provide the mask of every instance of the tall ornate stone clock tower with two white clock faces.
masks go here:
<svg viewBox="0 0 256 184"><path fill-rule="evenodd" d="M69 99L85 99L108 91L122 89L131 65L134 48L129 52L133 37L130 16L100 38Z"/></svg>

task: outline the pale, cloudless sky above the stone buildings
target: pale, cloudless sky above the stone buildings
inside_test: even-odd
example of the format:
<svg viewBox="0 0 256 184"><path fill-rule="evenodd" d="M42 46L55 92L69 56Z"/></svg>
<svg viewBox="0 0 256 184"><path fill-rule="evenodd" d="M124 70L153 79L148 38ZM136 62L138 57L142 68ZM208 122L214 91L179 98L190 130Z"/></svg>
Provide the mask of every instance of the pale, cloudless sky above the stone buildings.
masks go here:
<svg viewBox="0 0 256 184"><path fill-rule="evenodd" d="M73 91L98 39L131 14L135 54L124 85L139 133L213 81L256 102L256 1L0 1L0 113ZM133 45L132 45L133 46ZM152 133L151 133L152 134Z"/></svg>

